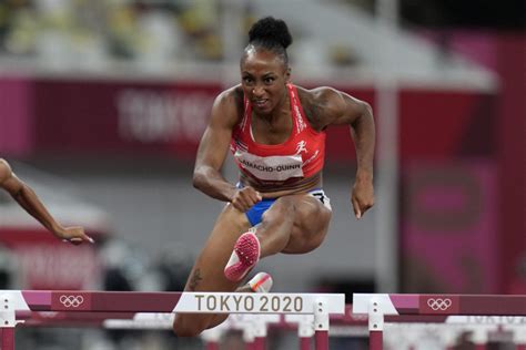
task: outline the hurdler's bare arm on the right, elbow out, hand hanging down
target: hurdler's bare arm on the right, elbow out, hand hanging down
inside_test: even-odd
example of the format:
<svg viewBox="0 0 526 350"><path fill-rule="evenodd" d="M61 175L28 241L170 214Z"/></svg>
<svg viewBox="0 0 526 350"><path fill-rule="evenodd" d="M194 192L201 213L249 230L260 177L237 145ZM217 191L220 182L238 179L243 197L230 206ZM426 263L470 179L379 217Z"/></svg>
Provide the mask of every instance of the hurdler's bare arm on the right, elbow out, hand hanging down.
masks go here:
<svg viewBox="0 0 526 350"><path fill-rule="evenodd" d="M371 105L344 92L325 89L321 94L325 100L323 114L325 126L348 124L356 147L356 179L351 200L356 218L374 205L373 158L376 131Z"/></svg>

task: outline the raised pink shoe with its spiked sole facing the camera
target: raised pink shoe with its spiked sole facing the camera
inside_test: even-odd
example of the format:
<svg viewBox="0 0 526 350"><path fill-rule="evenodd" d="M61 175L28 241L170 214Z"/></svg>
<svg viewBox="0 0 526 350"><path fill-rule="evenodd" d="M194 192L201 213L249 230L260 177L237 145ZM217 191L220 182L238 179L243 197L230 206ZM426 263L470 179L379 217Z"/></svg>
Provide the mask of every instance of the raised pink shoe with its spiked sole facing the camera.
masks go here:
<svg viewBox="0 0 526 350"><path fill-rule="evenodd" d="M224 276L232 281L242 280L259 259L260 240L254 233L245 233L237 238L234 245L234 251L224 268Z"/></svg>

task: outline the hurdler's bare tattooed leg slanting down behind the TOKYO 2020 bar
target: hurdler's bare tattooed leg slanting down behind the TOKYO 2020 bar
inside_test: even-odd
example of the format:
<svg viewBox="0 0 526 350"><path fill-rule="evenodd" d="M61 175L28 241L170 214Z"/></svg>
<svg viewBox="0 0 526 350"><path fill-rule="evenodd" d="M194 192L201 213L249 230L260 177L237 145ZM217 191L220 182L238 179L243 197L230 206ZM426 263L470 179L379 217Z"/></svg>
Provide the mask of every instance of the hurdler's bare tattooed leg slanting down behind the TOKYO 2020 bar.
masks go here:
<svg viewBox="0 0 526 350"><path fill-rule="evenodd" d="M244 213L232 205L226 205L218 217L212 233L201 254L195 260L192 272L186 281L189 291L232 291L239 282L224 277L226 265L233 246L241 234L250 228Z"/></svg>

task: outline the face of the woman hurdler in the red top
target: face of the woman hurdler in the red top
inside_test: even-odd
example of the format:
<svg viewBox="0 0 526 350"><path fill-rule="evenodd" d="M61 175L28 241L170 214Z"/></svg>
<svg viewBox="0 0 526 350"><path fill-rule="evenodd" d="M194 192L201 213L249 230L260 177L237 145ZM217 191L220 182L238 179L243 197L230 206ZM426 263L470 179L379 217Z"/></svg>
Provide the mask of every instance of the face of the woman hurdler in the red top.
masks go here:
<svg viewBox="0 0 526 350"><path fill-rule="evenodd" d="M240 65L241 85L255 113L270 114L286 100L291 74L277 54L249 48Z"/></svg>

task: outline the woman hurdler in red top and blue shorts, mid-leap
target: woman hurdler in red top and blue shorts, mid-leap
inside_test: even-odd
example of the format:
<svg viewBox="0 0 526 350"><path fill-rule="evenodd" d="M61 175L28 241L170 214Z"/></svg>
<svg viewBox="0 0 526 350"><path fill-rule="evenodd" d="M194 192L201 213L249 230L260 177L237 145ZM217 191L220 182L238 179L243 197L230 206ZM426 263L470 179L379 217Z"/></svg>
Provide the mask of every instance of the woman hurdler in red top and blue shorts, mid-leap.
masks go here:
<svg viewBox="0 0 526 350"><path fill-rule="evenodd" d="M241 83L213 104L193 184L226 205L185 291L269 291L272 279L264 272L240 288L261 258L304 254L323 243L332 214L322 183L325 131L331 125L348 125L354 138L357 171L351 203L356 218L374 204L370 105L332 87L293 84L286 52L291 43L284 21L269 17L254 23L241 55ZM221 174L229 150L240 168L236 185ZM195 337L225 318L178 313L173 329L180 337Z"/></svg>

